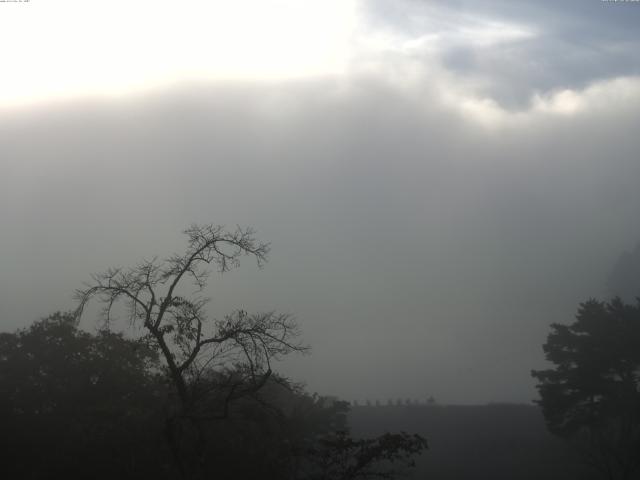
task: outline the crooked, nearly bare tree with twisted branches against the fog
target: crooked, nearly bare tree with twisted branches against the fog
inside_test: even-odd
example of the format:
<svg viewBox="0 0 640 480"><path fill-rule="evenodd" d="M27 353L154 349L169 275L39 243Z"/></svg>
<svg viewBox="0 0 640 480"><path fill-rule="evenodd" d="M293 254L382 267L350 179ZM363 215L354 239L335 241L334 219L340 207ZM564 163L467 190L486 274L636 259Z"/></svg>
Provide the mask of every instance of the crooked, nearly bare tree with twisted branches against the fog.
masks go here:
<svg viewBox="0 0 640 480"><path fill-rule="evenodd" d="M243 256L254 257L259 267L264 265L269 245L258 242L252 229L192 225L184 233L188 242L183 254L93 275L76 292L76 318L79 321L85 305L95 297L104 306L108 328L114 306L124 302L130 323L144 332L139 340L160 351L178 397L177 411L167 420L174 455L180 457L177 424L188 421L197 430L192 449L202 461L202 422L228 416L234 400L265 385L274 359L307 347L298 342L299 329L289 315L241 310L216 320L206 313L209 299L200 294L210 267L226 272L238 267ZM183 462L176 460L185 473Z"/></svg>

